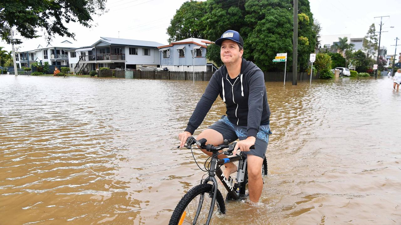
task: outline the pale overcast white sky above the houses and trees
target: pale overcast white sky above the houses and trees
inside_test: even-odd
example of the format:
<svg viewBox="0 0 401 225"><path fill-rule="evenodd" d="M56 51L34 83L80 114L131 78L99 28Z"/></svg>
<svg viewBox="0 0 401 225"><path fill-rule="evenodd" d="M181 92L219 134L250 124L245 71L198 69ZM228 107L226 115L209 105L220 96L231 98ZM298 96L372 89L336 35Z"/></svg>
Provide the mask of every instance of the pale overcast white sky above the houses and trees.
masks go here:
<svg viewBox="0 0 401 225"><path fill-rule="evenodd" d="M71 40L77 47L95 43L101 36L150 40L167 44L166 29L185 0L108 0L106 8L109 12L94 17L93 28L85 28L80 24L68 24L71 32L76 34ZM310 0L310 8L321 26L321 35L351 34L351 38L366 35L369 26L375 23L379 31L380 18L383 17L381 46L387 47L387 54L394 54L395 38L401 38L401 1L400 0ZM394 28L390 28L394 26ZM18 37L18 35L16 35ZM57 36L54 42L70 40ZM212 40L213 41L213 40ZM23 39L19 45L24 49L34 49L38 44L45 44L44 38ZM398 42L401 44L401 41ZM4 41L0 46L11 50ZM397 55L401 46L397 49Z"/></svg>

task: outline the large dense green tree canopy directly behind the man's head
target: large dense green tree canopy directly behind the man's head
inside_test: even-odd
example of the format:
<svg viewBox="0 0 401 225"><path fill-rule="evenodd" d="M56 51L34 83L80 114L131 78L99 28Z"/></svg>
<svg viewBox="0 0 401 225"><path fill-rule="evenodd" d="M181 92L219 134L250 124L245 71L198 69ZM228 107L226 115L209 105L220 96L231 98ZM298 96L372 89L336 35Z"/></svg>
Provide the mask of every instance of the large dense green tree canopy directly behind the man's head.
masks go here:
<svg viewBox="0 0 401 225"><path fill-rule="evenodd" d="M299 0L298 64L308 67L309 54L316 46L316 29L308 0ZM190 15L188 14L190 10ZM169 42L185 38L215 41L226 30L237 30L244 40L244 55L263 71L284 70L284 63L274 63L277 53L287 52L292 63L293 7L291 0L207 0L190 1L170 21ZM207 57L220 61L220 51L208 47ZM213 49L212 49L213 48ZM289 69L291 66L287 66Z"/></svg>

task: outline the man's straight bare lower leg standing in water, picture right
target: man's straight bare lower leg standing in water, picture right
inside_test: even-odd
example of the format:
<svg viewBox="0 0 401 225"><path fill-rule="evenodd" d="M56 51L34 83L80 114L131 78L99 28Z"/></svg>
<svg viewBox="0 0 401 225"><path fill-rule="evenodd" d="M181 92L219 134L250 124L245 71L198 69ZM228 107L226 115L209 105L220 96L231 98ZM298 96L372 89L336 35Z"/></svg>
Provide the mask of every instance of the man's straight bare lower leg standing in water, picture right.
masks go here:
<svg viewBox="0 0 401 225"><path fill-rule="evenodd" d="M249 200L257 203L262 194L262 163L263 159L255 155L247 155Z"/></svg>

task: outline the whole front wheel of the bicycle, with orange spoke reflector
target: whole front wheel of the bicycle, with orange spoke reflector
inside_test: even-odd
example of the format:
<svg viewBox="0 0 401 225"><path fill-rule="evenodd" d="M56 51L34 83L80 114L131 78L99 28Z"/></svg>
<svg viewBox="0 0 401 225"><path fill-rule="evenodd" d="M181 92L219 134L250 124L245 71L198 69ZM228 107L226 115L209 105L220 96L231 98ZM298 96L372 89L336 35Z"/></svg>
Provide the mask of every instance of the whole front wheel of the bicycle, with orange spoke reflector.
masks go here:
<svg viewBox="0 0 401 225"><path fill-rule="evenodd" d="M169 225L206 224L213 198L213 185L201 184L190 189L180 200L171 216ZM223 195L217 189L216 204L213 214L225 214Z"/></svg>

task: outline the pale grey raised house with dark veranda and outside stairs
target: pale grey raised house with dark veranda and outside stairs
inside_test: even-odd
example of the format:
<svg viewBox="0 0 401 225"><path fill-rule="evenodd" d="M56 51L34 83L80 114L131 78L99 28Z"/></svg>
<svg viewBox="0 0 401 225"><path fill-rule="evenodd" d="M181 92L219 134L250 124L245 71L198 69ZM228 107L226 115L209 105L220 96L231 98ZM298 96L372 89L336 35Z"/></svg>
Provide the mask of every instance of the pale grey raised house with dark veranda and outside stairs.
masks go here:
<svg viewBox="0 0 401 225"><path fill-rule="evenodd" d="M139 66L160 67L158 42L122 38L101 39L82 48L67 51L71 71L76 73L96 70L100 67L111 69L136 69Z"/></svg>

